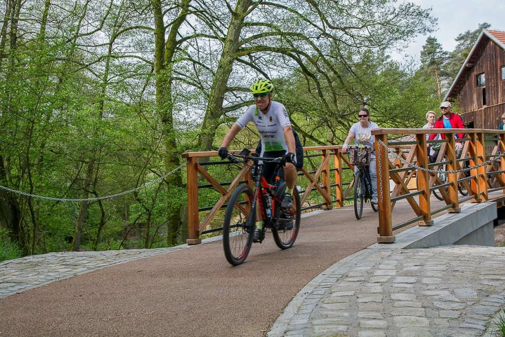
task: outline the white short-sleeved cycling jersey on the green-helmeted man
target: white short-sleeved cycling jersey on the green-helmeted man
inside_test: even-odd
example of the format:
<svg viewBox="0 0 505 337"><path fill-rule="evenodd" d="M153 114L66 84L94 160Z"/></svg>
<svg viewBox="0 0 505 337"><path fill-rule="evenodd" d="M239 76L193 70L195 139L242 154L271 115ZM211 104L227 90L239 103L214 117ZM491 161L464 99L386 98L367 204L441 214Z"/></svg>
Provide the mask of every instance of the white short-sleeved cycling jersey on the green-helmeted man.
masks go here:
<svg viewBox="0 0 505 337"><path fill-rule="evenodd" d="M287 151L283 129L291 123L284 105L272 101L266 114L257 109L256 105L251 105L235 123L243 128L249 122L256 125L261 135L260 156L265 152Z"/></svg>

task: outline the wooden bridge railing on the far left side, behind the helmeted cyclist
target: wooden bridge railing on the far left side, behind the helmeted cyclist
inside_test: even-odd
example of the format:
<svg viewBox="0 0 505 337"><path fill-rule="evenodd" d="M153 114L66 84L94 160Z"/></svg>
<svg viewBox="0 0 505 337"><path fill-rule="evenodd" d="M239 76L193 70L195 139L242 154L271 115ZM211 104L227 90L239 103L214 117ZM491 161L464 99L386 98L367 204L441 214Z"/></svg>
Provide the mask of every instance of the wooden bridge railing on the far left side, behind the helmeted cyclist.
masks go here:
<svg viewBox="0 0 505 337"><path fill-rule="evenodd" d="M399 153L399 147L395 147L395 151ZM221 229L222 221L216 220L216 216L222 212L235 188L241 183L252 187L250 170L248 166L243 166L232 181L220 183L206 167L219 165L222 168L229 168L230 163L219 161L216 151L185 152L182 156L186 158L187 172L188 236L186 243L199 244L202 234ZM352 172L354 167L349 163L348 155L342 154L340 146L305 147L304 157L305 164L298 174L297 182L302 195L302 211L343 207L345 201L352 199L350 195L353 187ZM216 161L216 159L218 160ZM200 162L202 160L206 162ZM208 184L203 184L204 181ZM199 194L201 194L199 191L203 188L212 188L218 191L220 196L217 200L208 200L207 206L202 207L200 202L204 201L199 201ZM321 202L314 202L314 199L318 198Z"/></svg>

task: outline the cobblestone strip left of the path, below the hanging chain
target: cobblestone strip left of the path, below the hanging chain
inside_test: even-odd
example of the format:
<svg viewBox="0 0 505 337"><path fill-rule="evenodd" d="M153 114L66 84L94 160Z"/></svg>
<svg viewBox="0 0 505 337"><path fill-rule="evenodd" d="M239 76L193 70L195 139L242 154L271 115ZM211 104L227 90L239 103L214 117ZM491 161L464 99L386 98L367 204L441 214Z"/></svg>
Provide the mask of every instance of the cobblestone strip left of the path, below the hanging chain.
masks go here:
<svg viewBox="0 0 505 337"><path fill-rule="evenodd" d="M113 264L187 247L187 245L181 245L158 249L59 252L0 262L0 299L16 292L68 279L68 277Z"/></svg>

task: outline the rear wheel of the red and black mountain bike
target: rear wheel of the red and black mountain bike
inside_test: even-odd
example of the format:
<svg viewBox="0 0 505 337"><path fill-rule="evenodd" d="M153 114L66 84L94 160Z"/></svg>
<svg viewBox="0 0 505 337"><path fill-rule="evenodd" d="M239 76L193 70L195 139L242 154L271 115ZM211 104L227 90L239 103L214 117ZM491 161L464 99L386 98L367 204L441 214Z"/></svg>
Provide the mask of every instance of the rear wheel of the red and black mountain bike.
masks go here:
<svg viewBox="0 0 505 337"><path fill-rule="evenodd" d="M282 183L279 185L276 193L279 200L282 200L285 191L286 183ZM280 206L280 203L276 202L278 223L277 226L273 226L272 228L273 241L275 241L277 247L287 249L294 244L295 240L297 240L298 231L300 230L302 211L298 190L293 188L293 206L291 206L290 209L281 209ZM292 228L290 228L291 223Z"/></svg>

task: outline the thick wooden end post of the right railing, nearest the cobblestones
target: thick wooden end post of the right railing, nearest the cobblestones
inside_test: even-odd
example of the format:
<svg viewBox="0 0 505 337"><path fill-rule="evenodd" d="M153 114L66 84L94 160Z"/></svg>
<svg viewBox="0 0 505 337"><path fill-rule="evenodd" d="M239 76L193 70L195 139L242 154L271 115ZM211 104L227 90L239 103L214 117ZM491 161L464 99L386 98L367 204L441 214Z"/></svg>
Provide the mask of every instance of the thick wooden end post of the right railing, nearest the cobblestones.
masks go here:
<svg viewBox="0 0 505 337"><path fill-rule="evenodd" d="M388 151L383 145L378 144L381 140L388 144L387 134L375 134L375 165L377 169L377 199L379 205L379 226L377 229L378 243L393 243L396 238L393 235L391 222L391 197L389 191L389 157Z"/></svg>

